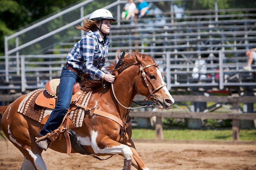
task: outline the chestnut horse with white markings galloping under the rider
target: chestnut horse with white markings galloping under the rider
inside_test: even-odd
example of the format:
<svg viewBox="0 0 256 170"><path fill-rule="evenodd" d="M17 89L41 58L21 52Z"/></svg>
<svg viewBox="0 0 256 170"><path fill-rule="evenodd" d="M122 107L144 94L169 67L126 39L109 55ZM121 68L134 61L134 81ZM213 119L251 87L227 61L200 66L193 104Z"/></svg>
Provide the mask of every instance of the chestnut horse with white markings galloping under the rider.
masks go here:
<svg viewBox="0 0 256 170"><path fill-rule="evenodd" d="M119 52L117 52L118 55ZM120 67L116 70L114 70L115 65L116 63L112 63L108 67L116 75L115 82L111 84L113 88L111 89L111 86L104 88L100 85L102 82L98 81L97 86L95 85L92 89L93 92L87 107L97 108L115 115L123 122L125 122L126 117L129 119L130 108L127 109L127 107L132 104L136 94L154 101L158 109L171 108L174 100L163 82L158 65L152 57L131 51L124 57ZM17 113L19 104L25 97L26 95L19 97L8 106L0 106L0 128L24 155L21 169L46 169L41 156L43 150L35 142L36 137L40 137L38 134L43 124ZM87 111L86 114L88 115L89 112ZM121 129L122 127L115 121L93 115L84 117L81 128L70 131L89 153L97 156L119 154L124 157L125 164L128 160L135 168L147 170L147 166L140 158L131 140L131 126L127 127L125 137L122 137ZM1 133L0 135L3 137ZM63 136L60 135L50 148L57 152L66 153L66 139ZM122 141L123 144L119 141ZM76 152L72 149L71 153ZM124 169L130 169L131 165L128 165L128 168L127 165L124 165Z"/></svg>

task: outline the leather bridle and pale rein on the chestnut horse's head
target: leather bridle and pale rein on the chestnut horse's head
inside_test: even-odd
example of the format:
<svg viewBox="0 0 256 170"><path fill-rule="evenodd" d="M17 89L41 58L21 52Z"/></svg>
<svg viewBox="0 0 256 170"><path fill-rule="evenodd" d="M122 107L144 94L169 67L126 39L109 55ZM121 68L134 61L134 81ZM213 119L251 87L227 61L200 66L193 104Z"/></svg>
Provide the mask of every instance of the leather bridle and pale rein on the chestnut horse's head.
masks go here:
<svg viewBox="0 0 256 170"><path fill-rule="evenodd" d="M137 59L137 60L138 60L138 59ZM156 92L157 90L159 90L159 89L161 89L162 87L166 86L166 84L162 84L161 86L155 88L154 85L153 85L153 83L151 82L150 78L148 78L148 76L146 75L146 73L145 73L145 71L144 71L145 68L148 68L148 67L151 67L151 66L154 66L154 67L158 68L158 64L155 63L155 64L151 64L151 65L147 65L147 66L145 66L145 67L142 67L141 63L138 61L138 66L139 66L140 73L141 73L141 75L142 75L142 77L143 77L143 80L145 81L146 86L147 86L147 88L148 88L148 90L149 90L149 92L150 92L150 95L148 95L148 97L147 97L146 99L144 99L142 102L139 102L139 103L134 102L134 101L133 101L133 102L136 103L136 105L140 105L141 103L144 103L144 102L146 102L146 101L149 101L149 100L153 99L154 103L153 103L153 104L150 104L150 105L142 105L141 107L134 107L134 106L136 106L136 105L134 105L134 106L132 106L132 107L125 107L125 106L122 105L122 104L118 101L118 99L116 98L116 95L115 95L115 92L114 92L113 83L111 83L112 91L113 91L113 94L114 94L114 97L115 97L116 101L117 101L121 106L123 106L124 108L129 109L129 110L155 106L155 105L156 105L156 102L158 101L158 99L155 98L154 92ZM139 73L139 74L140 74L140 73ZM139 78L140 78L140 76L138 77L138 80L137 80L137 83L136 83L136 91L137 91L137 93L138 93L137 84L138 84ZM151 88L150 88L148 82L150 82L151 86L153 87L153 89L154 89L153 91L151 90Z"/></svg>

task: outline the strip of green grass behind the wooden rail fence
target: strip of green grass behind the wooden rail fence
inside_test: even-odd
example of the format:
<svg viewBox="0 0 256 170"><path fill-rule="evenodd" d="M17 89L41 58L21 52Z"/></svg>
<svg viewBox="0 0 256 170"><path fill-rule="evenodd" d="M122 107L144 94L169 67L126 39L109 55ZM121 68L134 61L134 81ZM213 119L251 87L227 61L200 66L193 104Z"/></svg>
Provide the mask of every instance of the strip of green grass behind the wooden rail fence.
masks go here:
<svg viewBox="0 0 256 170"><path fill-rule="evenodd" d="M165 139L173 140L232 140L232 130L163 130ZM154 139L154 129L132 129L132 139ZM240 140L256 140L256 129L240 130Z"/></svg>

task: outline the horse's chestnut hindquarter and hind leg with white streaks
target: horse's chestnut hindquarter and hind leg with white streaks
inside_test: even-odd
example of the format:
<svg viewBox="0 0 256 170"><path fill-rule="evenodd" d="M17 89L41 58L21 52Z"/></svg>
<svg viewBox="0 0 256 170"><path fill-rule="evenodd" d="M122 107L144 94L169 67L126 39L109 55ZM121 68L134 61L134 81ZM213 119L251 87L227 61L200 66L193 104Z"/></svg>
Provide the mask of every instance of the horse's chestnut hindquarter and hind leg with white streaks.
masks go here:
<svg viewBox="0 0 256 170"><path fill-rule="evenodd" d="M35 136L30 135L30 131L28 130L29 125L26 123L29 119L24 120L24 117L16 112L14 107L10 107L10 109L4 113L2 130L5 136L24 156L21 169L46 169L41 156L43 150L39 149L37 143L35 143Z"/></svg>

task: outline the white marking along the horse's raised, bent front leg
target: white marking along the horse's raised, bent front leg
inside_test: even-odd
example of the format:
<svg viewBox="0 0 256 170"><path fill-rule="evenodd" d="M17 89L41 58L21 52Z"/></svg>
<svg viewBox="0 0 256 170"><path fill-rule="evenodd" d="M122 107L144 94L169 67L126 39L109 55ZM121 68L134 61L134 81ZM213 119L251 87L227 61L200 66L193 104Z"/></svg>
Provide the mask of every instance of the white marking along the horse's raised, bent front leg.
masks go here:
<svg viewBox="0 0 256 170"><path fill-rule="evenodd" d="M130 147L120 143L119 146L107 147L100 149L96 143L98 132L93 131L91 134L91 147L95 153L109 153L109 154L123 154L125 159L130 160L132 157L132 151Z"/></svg>

